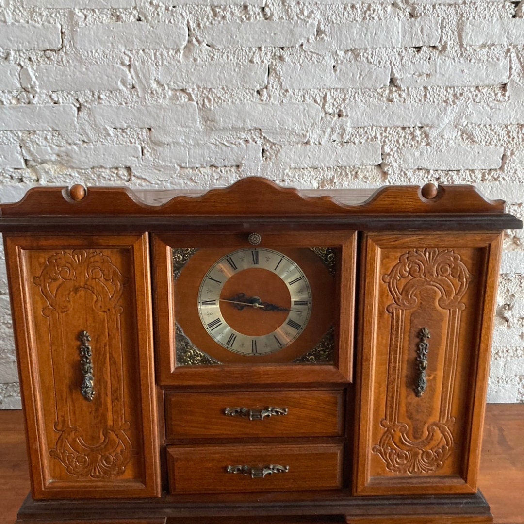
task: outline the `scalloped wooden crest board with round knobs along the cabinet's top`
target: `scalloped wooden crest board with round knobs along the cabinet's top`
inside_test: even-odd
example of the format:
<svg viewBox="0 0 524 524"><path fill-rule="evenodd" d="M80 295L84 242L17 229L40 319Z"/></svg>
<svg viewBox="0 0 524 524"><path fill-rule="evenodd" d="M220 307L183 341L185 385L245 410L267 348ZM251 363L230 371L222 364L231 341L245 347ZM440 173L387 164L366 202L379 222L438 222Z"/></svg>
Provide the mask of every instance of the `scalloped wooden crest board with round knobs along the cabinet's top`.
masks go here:
<svg viewBox="0 0 524 524"><path fill-rule="evenodd" d="M426 188L426 187L424 187ZM332 196L303 196L259 177L241 179L228 188L212 189L198 197L176 196L162 205L140 201L127 188L75 185L30 189L17 203L3 204L4 217L30 216L353 216L413 214L503 214L504 201L487 200L472 185L439 185L422 191L418 185L386 186L357 205L344 205ZM332 193L333 194L333 193Z"/></svg>

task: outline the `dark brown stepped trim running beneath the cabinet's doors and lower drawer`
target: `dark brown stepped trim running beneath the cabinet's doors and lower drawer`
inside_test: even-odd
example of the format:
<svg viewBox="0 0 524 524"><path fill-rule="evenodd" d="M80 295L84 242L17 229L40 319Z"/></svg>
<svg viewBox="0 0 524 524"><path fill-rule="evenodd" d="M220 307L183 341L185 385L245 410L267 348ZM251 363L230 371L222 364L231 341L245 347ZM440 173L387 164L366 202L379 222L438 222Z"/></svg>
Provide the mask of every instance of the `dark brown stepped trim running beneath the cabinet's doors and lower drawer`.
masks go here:
<svg viewBox="0 0 524 524"><path fill-rule="evenodd" d="M161 517L286 516L286 515L456 515L490 516L489 505L480 492L474 495L420 497L352 497L347 490L238 495L165 495L160 499L32 500L26 498L17 522L38 520L109 520ZM460 522L457 519L457 522Z"/></svg>

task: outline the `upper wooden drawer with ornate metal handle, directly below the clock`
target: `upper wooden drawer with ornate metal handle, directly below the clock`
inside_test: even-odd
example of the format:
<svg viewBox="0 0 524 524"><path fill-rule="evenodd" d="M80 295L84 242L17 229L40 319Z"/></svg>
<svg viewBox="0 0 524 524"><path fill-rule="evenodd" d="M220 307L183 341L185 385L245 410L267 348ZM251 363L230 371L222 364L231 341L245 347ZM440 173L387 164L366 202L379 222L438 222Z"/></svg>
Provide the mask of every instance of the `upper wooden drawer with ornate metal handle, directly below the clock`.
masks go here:
<svg viewBox="0 0 524 524"><path fill-rule="evenodd" d="M343 390L169 393L168 439L343 434Z"/></svg>

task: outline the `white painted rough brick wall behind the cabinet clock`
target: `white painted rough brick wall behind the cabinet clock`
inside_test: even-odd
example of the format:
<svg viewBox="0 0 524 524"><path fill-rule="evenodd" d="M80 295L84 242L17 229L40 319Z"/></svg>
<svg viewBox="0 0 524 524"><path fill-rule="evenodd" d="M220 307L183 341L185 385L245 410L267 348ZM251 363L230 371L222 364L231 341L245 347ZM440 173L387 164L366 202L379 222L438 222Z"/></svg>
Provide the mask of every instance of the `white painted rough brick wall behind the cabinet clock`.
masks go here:
<svg viewBox="0 0 524 524"><path fill-rule="evenodd" d="M0 0L0 198L36 184L474 183L524 215L524 18L507 0ZM524 401L507 232L489 401ZM0 251L0 408L19 406Z"/></svg>

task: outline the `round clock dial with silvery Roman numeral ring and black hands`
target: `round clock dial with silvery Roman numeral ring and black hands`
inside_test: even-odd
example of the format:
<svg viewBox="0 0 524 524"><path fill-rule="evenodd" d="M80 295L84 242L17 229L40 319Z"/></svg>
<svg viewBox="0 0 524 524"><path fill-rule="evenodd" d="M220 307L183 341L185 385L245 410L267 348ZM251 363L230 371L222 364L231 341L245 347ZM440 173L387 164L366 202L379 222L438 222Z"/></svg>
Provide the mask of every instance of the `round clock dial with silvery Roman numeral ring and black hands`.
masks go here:
<svg viewBox="0 0 524 524"><path fill-rule="evenodd" d="M300 266L266 248L237 249L217 260L204 275L197 300L209 336L228 351L253 357L297 340L313 308Z"/></svg>

